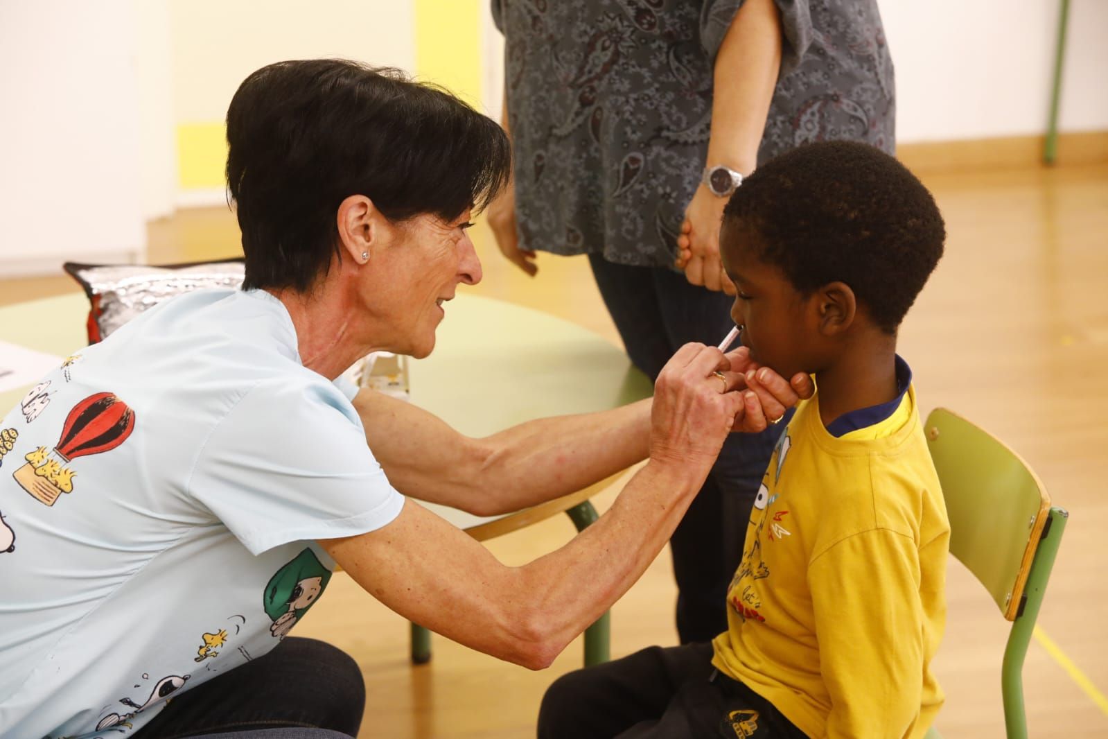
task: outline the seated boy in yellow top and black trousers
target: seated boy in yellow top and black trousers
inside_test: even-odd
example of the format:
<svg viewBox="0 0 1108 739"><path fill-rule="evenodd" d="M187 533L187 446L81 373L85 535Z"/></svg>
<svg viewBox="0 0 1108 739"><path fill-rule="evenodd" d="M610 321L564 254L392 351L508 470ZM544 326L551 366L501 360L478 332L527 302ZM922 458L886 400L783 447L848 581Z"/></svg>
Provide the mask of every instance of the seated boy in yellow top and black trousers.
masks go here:
<svg viewBox="0 0 1108 739"><path fill-rule="evenodd" d="M711 644L572 673L543 739L922 737L950 525L896 329L942 256L931 194L891 156L802 146L748 177L720 249L742 345L815 377L778 442Z"/></svg>

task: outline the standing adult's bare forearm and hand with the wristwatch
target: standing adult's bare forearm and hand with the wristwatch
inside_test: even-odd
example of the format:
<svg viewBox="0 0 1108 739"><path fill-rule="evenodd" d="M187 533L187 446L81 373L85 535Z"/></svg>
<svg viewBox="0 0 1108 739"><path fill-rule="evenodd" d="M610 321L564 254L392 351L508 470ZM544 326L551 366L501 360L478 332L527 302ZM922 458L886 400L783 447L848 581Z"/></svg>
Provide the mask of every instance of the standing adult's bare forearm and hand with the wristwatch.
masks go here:
<svg viewBox="0 0 1108 739"><path fill-rule="evenodd" d="M773 0L746 0L716 57L705 165L722 164L743 175L753 172L781 69L781 14ZM704 185L697 187L678 238L678 267L693 285L733 295L719 261L719 226L727 199Z"/></svg>

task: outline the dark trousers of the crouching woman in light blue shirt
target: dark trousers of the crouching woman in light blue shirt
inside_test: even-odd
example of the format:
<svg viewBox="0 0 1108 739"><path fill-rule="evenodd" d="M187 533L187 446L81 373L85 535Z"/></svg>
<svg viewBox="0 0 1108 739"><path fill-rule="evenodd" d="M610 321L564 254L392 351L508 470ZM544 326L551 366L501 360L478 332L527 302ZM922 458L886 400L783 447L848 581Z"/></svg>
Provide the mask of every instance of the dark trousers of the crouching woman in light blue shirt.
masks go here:
<svg viewBox="0 0 1108 739"><path fill-rule="evenodd" d="M174 696L138 739L346 739L358 736L366 684L345 651L286 637L266 655Z"/></svg>

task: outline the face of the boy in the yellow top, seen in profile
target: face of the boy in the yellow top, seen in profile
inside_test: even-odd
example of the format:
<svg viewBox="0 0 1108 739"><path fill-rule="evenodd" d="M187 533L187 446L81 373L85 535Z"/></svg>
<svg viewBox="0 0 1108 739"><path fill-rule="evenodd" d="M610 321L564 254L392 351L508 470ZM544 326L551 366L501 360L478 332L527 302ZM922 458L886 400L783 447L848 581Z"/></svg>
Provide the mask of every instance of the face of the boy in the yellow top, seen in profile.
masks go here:
<svg viewBox="0 0 1108 739"><path fill-rule="evenodd" d="M728 218L719 236L720 259L735 283L731 318L743 326L742 345L750 358L781 377L813 370L820 336L810 302L780 268L761 261L751 240L757 233Z"/></svg>

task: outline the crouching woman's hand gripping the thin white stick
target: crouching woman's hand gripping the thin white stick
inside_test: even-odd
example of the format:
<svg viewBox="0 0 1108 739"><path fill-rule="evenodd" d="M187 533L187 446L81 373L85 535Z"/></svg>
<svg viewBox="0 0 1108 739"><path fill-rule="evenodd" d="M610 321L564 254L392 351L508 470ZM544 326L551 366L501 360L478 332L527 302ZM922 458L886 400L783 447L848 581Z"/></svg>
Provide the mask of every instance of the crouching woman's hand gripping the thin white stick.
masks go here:
<svg viewBox="0 0 1108 739"><path fill-rule="evenodd" d="M707 470L716 461L743 398L727 392L714 374L731 361L715 347L686 343L666 362L654 383L650 459Z"/></svg>

